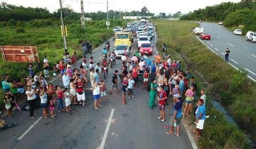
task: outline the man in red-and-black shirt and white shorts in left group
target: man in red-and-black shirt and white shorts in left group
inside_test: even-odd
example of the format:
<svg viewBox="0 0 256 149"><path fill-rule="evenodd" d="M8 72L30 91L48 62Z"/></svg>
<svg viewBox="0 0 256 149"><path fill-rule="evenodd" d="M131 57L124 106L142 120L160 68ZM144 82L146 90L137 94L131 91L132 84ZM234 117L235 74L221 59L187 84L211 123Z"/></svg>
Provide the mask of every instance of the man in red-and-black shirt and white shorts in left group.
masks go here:
<svg viewBox="0 0 256 149"><path fill-rule="evenodd" d="M76 96L77 96L77 101L81 105L81 100L83 101L83 106L85 106L85 94L84 94L84 81L82 81L81 78L76 78L75 83L76 85Z"/></svg>

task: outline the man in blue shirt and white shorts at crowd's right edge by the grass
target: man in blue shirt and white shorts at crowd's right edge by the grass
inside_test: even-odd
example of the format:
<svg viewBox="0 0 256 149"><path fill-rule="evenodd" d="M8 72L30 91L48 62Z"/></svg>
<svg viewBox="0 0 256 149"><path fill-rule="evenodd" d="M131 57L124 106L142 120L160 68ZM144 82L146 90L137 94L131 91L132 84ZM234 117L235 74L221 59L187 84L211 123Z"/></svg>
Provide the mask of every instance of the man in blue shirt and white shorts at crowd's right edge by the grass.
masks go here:
<svg viewBox="0 0 256 149"><path fill-rule="evenodd" d="M196 111L196 130L193 130L194 133L196 133L196 137L201 137L202 131L204 129L204 120L205 120L205 105L204 100L199 99L198 100L198 108Z"/></svg>

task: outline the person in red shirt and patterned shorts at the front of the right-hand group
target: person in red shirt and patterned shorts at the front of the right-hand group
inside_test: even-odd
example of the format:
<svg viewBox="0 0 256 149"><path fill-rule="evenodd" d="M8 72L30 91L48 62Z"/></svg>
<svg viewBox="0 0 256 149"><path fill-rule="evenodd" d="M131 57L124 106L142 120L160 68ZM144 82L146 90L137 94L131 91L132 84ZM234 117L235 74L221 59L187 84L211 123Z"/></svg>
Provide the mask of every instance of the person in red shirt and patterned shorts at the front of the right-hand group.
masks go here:
<svg viewBox="0 0 256 149"><path fill-rule="evenodd" d="M165 109L165 100L167 99L167 94L166 92L163 90L164 86L161 85L159 86L159 92L158 92L158 109L160 110L160 117L158 117L157 119L162 119L161 122L165 121L165 113L164 113L164 109Z"/></svg>

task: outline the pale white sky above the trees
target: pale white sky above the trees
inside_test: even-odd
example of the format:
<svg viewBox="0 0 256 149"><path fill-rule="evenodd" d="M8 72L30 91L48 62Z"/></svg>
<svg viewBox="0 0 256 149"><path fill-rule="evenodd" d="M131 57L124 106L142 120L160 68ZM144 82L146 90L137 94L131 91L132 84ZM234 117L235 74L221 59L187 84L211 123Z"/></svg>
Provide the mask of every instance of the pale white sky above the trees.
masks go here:
<svg viewBox="0 0 256 149"><path fill-rule="evenodd" d="M159 14L187 13L198 9L204 9L206 6L213 6L221 2L240 2L241 0L108 0L108 10L119 11L140 11L146 5L150 12ZM22 5L24 7L46 7L50 12L57 11L60 7L59 0L0 0L8 4ZM75 12L81 12L80 0L62 0L63 7L69 7ZM107 11L107 0L84 0L85 12Z"/></svg>

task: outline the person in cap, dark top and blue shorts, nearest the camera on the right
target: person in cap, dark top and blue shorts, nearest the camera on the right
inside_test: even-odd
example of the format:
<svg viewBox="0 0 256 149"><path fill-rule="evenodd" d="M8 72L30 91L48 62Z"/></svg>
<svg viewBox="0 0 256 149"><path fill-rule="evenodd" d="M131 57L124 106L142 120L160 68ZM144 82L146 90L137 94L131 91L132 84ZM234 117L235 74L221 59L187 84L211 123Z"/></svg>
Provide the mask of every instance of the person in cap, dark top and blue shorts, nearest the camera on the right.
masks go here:
<svg viewBox="0 0 256 149"><path fill-rule="evenodd" d="M170 131L167 131L166 134L171 135L173 134L174 127L177 127L177 132L175 132L175 135L177 137L180 136L180 121L182 119L182 103L180 94L173 95L174 97L174 105L172 108L173 116L170 121L171 129Z"/></svg>

